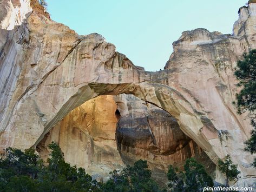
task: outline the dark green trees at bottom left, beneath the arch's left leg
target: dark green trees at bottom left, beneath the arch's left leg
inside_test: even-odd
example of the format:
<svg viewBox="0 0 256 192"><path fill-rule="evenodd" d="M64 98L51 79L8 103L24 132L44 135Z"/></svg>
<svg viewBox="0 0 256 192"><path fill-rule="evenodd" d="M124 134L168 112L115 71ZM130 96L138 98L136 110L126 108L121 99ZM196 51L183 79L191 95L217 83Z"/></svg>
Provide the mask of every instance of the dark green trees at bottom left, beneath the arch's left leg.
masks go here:
<svg viewBox="0 0 256 192"><path fill-rule="evenodd" d="M48 165L34 149L6 149L0 160L0 191L100 191L84 169L64 161L57 144L49 148Z"/></svg>

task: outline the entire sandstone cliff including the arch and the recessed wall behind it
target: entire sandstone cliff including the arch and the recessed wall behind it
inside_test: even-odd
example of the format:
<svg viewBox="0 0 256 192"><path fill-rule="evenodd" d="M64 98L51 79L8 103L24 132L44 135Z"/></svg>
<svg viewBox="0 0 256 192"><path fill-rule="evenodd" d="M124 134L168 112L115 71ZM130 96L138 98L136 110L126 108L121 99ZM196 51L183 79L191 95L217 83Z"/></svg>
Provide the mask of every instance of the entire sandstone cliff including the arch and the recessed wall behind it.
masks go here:
<svg viewBox="0 0 256 192"><path fill-rule="evenodd" d="M143 154L148 154L148 160L152 158L154 162L162 156L169 162L182 162L193 153L206 153L214 163L230 154L241 171L239 182L253 181L256 175L251 165L253 156L243 150L252 127L244 120L245 115L237 115L232 101L239 91L233 75L236 62L245 51L256 47L254 1L239 9L233 35L206 29L183 32L173 43L174 52L165 70L158 72L135 67L99 34L80 36L51 21L36 0L31 0L30 5L25 0L6 1L0 4L0 10L1 149L37 147L43 155L47 153L45 144L54 137L68 161L85 167L108 164L109 154L114 154L113 158L120 164ZM106 115L111 118L100 121L94 104L82 105L100 95L120 94L132 94L166 112L151 106L148 112L143 107L136 108L137 100L127 97L133 109L129 110L128 104L122 104L127 98L120 97L120 101L117 97L120 110L114 116L116 105L107 96L106 103L112 104ZM91 101L97 103L101 99ZM98 107L101 109L100 104ZM84 117L84 108L97 119L95 127L84 124L90 121ZM137 112L127 116L127 111ZM150 120L151 116L159 121ZM129 124L129 118L134 124ZM108 123L105 126L106 122L111 126ZM139 135L145 138L143 142ZM68 137L81 138L67 144ZM91 141L92 138L95 140ZM121 157L116 152L116 141ZM90 147L92 144L95 146ZM77 151L71 146L77 146ZM96 148L99 151L93 152ZM87 152L80 154L81 150ZM74 155L69 154L81 159L71 160ZM97 158L96 154L102 156ZM161 161L167 162L166 159ZM221 178L216 170L216 181Z"/></svg>

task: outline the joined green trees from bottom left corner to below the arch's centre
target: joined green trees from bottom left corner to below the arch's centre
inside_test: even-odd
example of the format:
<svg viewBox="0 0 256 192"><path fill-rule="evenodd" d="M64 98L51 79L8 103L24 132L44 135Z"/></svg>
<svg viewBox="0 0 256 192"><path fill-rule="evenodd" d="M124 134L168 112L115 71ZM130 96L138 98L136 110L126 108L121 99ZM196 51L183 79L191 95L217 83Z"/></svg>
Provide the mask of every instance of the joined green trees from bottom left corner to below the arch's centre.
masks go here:
<svg viewBox="0 0 256 192"><path fill-rule="evenodd" d="M102 183L93 180L84 169L65 162L56 143L49 148L47 165L34 149L6 149L0 159L0 191L161 191L151 177L147 161L114 170L111 178Z"/></svg>

